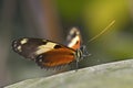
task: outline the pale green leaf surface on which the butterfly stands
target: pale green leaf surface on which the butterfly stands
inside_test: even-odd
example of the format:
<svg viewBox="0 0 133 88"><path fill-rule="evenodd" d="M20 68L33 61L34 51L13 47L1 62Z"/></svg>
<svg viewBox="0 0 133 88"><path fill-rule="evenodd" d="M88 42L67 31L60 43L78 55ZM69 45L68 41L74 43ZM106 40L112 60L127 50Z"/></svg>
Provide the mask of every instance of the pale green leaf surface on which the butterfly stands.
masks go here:
<svg viewBox="0 0 133 88"><path fill-rule="evenodd" d="M133 59L27 79L4 88L132 88Z"/></svg>

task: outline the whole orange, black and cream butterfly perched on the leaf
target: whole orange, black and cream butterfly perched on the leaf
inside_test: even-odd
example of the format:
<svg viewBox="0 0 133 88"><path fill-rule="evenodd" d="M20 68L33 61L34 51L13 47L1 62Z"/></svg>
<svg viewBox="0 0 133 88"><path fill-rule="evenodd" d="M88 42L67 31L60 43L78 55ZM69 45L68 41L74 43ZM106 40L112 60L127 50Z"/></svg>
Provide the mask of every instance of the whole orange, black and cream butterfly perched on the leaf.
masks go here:
<svg viewBox="0 0 133 88"><path fill-rule="evenodd" d="M34 61L41 68L55 68L76 64L89 56L85 46L82 45L81 33L72 28L66 37L68 44L62 45L45 38L21 37L12 42L12 48L21 56Z"/></svg>

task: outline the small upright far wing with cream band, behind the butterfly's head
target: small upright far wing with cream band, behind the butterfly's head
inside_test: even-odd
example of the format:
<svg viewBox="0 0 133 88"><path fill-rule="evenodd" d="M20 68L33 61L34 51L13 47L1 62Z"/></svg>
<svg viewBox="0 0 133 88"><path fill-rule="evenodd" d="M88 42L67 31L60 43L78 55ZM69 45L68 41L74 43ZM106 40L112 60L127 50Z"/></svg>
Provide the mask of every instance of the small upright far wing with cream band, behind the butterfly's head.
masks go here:
<svg viewBox="0 0 133 88"><path fill-rule="evenodd" d="M68 34L66 41L68 41L68 47L71 47L73 50L80 48L82 44L82 37L80 31L76 28L72 28Z"/></svg>

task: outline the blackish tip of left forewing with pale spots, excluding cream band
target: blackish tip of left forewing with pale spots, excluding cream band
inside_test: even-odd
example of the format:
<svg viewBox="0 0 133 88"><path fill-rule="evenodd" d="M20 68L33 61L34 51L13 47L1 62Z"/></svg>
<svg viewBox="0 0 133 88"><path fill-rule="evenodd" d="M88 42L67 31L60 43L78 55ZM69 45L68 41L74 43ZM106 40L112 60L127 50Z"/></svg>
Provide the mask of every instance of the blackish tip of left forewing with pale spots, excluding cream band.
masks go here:
<svg viewBox="0 0 133 88"><path fill-rule="evenodd" d="M18 38L12 42L12 50L25 58L35 59L38 46L45 45L49 41L42 38Z"/></svg>

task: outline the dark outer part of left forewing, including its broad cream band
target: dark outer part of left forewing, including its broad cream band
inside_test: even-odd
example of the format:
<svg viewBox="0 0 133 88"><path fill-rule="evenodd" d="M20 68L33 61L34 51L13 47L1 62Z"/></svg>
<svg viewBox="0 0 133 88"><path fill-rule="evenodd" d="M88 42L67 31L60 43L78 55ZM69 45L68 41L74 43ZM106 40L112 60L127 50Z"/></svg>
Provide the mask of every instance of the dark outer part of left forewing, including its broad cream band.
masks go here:
<svg viewBox="0 0 133 88"><path fill-rule="evenodd" d="M34 61L39 54L53 50L54 45L57 44L42 38L19 38L13 41L12 48L25 58Z"/></svg>

